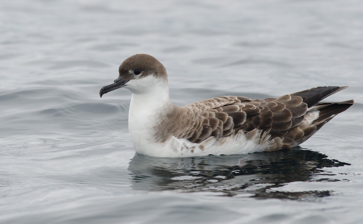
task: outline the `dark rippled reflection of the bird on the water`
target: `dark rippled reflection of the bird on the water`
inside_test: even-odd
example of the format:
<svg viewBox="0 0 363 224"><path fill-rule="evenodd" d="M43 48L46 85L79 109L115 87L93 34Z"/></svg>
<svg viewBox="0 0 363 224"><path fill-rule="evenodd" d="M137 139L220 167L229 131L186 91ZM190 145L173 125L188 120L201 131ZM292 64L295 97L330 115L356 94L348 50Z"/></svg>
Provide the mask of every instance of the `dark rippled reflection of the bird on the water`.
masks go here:
<svg viewBox="0 0 363 224"><path fill-rule="evenodd" d="M293 148L268 153L156 158L136 154L129 163L134 190L181 190L220 192L265 198L311 199L329 196L330 191L284 192L273 188L291 182L329 182L335 174L329 167L350 165L311 150ZM322 178L322 176L324 178Z"/></svg>

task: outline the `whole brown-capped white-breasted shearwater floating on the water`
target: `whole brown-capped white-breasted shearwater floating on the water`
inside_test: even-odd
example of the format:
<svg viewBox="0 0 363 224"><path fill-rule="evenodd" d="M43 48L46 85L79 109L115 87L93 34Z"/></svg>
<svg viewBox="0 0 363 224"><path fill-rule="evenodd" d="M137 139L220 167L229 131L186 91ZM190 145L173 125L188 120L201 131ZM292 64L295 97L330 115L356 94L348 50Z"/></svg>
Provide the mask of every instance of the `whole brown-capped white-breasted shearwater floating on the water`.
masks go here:
<svg viewBox="0 0 363 224"><path fill-rule="evenodd" d="M179 107L170 101L165 67L148 54L123 61L118 78L99 95L121 87L132 93L129 132L136 152L158 157L292 148L354 102L320 102L347 88L323 86L277 98L221 96Z"/></svg>

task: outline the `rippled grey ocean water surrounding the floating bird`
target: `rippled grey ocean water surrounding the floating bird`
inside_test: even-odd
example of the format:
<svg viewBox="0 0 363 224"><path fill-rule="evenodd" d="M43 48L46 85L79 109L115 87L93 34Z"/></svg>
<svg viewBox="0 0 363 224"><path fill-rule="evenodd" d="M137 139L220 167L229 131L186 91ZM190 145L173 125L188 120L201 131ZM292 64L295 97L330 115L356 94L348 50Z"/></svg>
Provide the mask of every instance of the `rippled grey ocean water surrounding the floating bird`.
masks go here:
<svg viewBox="0 0 363 224"><path fill-rule="evenodd" d="M363 105L293 150L135 154L131 93L98 92L127 57L176 105L350 86L363 103L363 3L0 1L0 223L363 223Z"/></svg>

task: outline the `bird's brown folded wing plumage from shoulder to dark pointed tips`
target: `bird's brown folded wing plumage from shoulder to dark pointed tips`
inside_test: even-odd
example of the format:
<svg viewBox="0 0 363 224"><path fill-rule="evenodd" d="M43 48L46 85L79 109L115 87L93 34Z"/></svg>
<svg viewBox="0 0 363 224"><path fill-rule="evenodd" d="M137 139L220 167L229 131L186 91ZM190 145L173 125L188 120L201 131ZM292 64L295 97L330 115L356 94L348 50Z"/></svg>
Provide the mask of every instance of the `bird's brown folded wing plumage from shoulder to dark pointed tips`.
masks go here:
<svg viewBox="0 0 363 224"><path fill-rule="evenodd" d="M173 113L170 113L175 117L167 117L168 119L164 121L164 127L167 128L158 130L158 133L165 133L162 135L164 138L167 137L167 133L172 133L177 138L200 143L211 136L219 139L236 134L240 130L246 133L262 130L262 133L269 134L272 140L273 146L267 150L291 148L313 135L329 121L329 116L336 115L351 106L352 102L348 101L333 103L337 113L335 110L334 113L324 112L326 118L311 123L311 117L315 115L309 111L308 105L320 105L319 100L345 88L345 86L316 87L263 100L238 96L206 99L184 107L175 107ZM319 113L322 112L322 108L319 109ZM304 121L304 118L307 121ZM248 138L249 135L246 136Z"/></svg>

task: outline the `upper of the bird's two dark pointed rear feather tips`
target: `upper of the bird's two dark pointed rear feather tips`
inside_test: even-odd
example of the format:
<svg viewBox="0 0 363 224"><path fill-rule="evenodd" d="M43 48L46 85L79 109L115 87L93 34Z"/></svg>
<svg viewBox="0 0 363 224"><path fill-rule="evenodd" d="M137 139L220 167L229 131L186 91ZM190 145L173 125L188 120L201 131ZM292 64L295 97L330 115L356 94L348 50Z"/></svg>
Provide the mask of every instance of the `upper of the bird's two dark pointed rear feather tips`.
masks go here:
<svg viewBox="0 0 363 224"><path fill-rule="evenodd" d="M319 86L290 95L297 95L301 97L303 102L307 104L307 107L311 107L317 104L322 99L325 99L326 97L329 97L331 94L334 94L340 90L346 89L347 87L348 86Z"/></svg>

